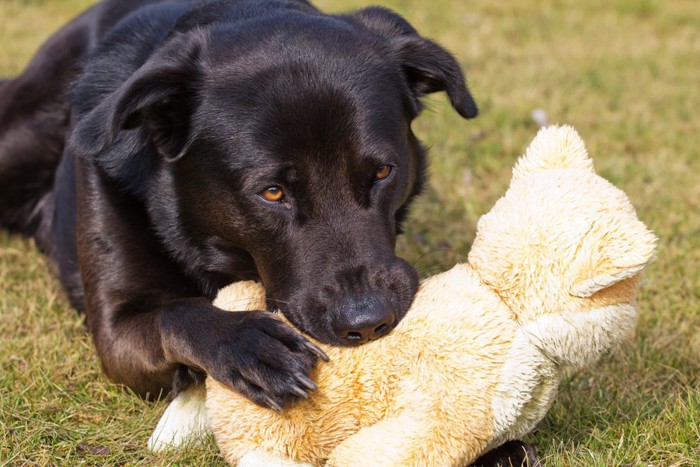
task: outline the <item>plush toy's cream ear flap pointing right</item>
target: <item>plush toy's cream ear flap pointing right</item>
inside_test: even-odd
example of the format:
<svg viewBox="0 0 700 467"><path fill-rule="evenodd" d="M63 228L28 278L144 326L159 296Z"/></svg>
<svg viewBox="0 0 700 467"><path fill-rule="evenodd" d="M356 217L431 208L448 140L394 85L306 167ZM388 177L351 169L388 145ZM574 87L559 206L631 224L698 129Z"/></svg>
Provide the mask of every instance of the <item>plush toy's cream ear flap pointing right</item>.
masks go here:
<svg viewBox="0 0 700 467"><path fill-rule="evenodd" d="M654 259L656 236L625 211L596 220L587 232L572 264L578 279L571 295L590 297L635 276Z"/></svg>

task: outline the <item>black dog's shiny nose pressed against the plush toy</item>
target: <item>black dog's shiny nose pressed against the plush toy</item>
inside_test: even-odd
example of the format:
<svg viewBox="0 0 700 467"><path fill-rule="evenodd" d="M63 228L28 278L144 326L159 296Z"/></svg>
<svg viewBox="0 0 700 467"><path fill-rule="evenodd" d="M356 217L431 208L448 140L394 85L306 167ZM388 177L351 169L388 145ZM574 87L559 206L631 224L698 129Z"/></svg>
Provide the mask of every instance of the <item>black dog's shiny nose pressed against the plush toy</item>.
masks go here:
<svg viewBox="0 0 700 467"><path fill-rule="evenodd" d="M348 300L339 311L333 330L347 345L360 345L386 336L396 321L394 307L380 297Z"/></svg>

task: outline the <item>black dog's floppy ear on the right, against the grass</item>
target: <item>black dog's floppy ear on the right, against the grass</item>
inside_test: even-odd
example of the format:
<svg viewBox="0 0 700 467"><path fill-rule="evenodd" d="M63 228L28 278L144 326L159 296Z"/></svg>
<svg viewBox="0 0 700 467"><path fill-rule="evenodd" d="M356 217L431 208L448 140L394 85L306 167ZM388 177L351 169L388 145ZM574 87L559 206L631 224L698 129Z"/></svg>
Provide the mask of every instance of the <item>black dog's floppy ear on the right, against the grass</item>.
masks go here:
<svg viewBox="0 0 700 467"><path fill-rule="evenodd" d="M351 18L388 42L403 67L416 101L426 94L445 91L462 117L477 116L478 109L467 89L462 69L447 50L421 37L413 26L391 10L370 7L352 14Z"/></svg>

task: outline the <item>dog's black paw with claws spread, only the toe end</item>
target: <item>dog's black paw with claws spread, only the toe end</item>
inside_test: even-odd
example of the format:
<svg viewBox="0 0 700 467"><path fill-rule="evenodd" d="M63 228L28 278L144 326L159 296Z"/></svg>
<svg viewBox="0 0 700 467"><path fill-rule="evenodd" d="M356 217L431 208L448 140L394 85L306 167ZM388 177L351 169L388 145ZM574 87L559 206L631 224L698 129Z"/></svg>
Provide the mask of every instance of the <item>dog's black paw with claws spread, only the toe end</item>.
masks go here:
<svg viewBox="0 0 700 467"><path fill-rule="evenodd" d="M221 329L205 369L215 380L235 388L263 407L277 411L308 397L316 384L309 375L319 358L316 345L272 313L222 313Z"/></svg>

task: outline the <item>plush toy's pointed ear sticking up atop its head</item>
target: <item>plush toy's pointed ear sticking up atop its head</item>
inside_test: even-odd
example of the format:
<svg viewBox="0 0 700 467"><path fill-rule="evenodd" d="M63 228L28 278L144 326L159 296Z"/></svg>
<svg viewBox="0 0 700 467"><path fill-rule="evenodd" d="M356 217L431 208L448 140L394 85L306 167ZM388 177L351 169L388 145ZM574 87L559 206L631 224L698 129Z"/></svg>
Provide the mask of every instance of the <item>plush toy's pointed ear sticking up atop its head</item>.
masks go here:
<svg viewBox="0 0 700 467"><path fill-rule="evenodd" d="M593 160L576 130L569 126L542 128L513 169L513 181L553 169L580 169L595 172Z"/></svg>

